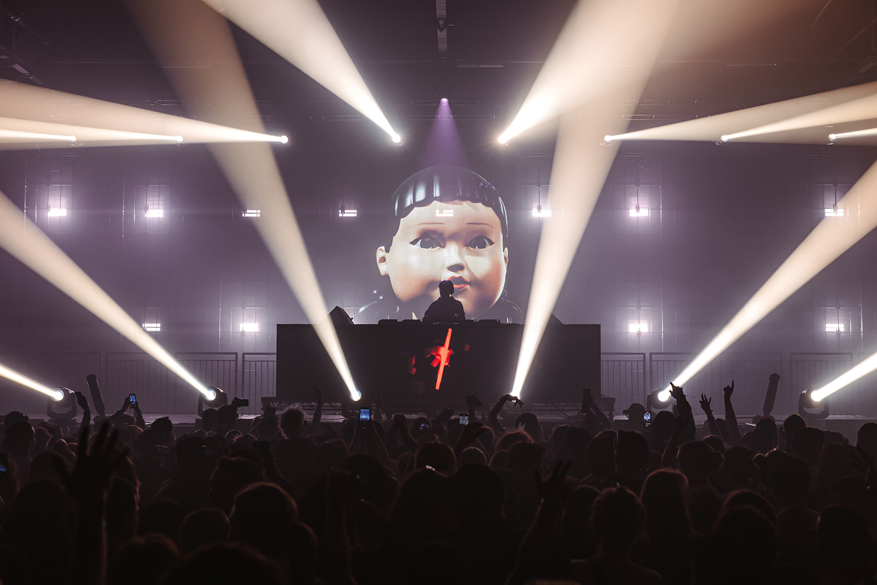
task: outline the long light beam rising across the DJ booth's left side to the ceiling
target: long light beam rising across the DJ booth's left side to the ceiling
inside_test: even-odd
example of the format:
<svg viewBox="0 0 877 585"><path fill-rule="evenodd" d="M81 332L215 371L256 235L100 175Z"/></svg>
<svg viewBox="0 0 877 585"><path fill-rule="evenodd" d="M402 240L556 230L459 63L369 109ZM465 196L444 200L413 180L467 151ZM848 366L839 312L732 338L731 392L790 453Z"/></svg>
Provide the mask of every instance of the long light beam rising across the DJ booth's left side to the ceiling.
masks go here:
<svg viewBox="0 0 877 585"><path fill-rule="evenodd" d="M201 0L126 0L128 10L165 68L177 93L198 118L234 120L264 132L238 47L225 18ZM257 10L262 10L262 4ZM213 104L213 105L209 105ZM245 132L245 131L241 131ZM362 396L328 310L304 238L267 144L213 144L210 151L268 252L302 306L353 401Z"/></svg>

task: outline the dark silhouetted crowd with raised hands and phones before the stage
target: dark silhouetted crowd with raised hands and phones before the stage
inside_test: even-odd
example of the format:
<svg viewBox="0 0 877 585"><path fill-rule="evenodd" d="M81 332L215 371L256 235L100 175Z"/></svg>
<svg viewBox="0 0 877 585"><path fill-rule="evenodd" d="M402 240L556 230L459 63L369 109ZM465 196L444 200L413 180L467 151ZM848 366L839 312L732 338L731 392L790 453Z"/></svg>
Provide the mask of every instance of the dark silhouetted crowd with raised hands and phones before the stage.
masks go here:
<svg viewBox="0 0 877 585"><path fill-rule="evenodd" d="M503 396L454 417L321 424L293 406L180 434L128 402L0 443L5 585L871 583L877 424L854 444L792 415L742 433L673 411L612 421L589 393L550 428ZM349 407L348 407L349 408ZM36 422L36 421L33 421ZM507 424L506 428L503 424ZM248 426L248 425L247 425ZM81 428L80 428L81 427ZM745 430L746 427L744 426Z"/></svg>

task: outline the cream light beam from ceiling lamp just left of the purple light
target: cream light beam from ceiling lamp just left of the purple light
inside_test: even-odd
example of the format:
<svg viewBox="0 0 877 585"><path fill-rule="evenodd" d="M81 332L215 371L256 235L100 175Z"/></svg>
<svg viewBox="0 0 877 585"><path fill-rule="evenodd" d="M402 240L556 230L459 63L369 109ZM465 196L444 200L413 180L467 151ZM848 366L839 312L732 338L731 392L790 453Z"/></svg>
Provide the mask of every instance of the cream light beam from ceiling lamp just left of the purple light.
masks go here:
<svg viewBox="0 0 877 585"><path fill-rule="evenodd" d="M402 141L389 125L317 0L203 2L352 105L387 132L393 142Z"/></svg>

